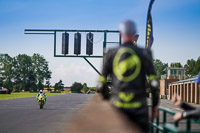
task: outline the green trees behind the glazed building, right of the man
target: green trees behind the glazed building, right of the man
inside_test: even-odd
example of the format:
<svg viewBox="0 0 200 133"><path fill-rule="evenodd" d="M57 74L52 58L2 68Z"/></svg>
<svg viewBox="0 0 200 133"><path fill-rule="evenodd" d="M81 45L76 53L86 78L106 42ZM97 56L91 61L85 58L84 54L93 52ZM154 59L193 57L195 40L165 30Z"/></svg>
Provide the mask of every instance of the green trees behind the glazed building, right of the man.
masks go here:
<svg viewBox="0 0 200 133"><path fill-rule="evenodd" d="M186 78L191 78L200 72L200 57L197 60L188 59L185 65L182 65L180 62L171 63L163 63L159 59L154 60L154 67L157 72L158 79L161 79L161 75L166 74L167 67L184 67Z"/></svg>

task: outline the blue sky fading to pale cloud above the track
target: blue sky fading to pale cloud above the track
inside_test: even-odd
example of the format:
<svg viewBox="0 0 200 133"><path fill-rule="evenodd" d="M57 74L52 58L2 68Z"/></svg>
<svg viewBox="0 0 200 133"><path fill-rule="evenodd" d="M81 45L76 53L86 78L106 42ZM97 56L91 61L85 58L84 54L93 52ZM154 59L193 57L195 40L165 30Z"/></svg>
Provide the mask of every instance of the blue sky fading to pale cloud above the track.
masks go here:
<svg viewBox="0 0 200 133"><path fill-rule="evenodd" d="M65 86L86 82L96 86L98 74L82 58L53 56L53 36L27 35L24 29L101 29L118 30L119 24L134 20L138 46L145 45L149 0L0 0L0 53L39 53L49 62L51 83L60 79ZM155 0L152 8L155 59L164 63L181 62L200 56L200 0ZM73 54L70 33L70 54ZM94 54L102 53L102 34L94 34ZM85 33L82 33L82 54ZM110 35L108 41L117 41ZM61 33L57 35L57 53L61 54ZM102 59L89 59L101 70Z"/></svg>

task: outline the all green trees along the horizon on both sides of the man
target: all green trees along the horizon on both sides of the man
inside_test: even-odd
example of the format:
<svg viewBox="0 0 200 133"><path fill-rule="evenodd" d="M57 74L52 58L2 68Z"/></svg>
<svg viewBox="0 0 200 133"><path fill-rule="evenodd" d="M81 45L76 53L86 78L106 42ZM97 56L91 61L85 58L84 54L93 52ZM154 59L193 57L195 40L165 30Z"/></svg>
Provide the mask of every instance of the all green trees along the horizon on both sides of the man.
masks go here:
<svg viewBox="0 0 200 133"><path fill-rule="evenodd" d="M154 66L158 75L166 74L167 67L184 67L187 78L198 75L200 71L200 57L197 60L189 59L183 66L180 62L163 63L159 59L154 60ZM7 88L9 92L12 91L37 91L44 87L51 88L51 74L48 62L40 54L33 54L28 56L26 54L19 54L16 57L11 57L8 54L0 54L0 87ZM64 84L62 80L55 83L53 86L55 91L63 91ZM73 83L70 87L72 92L87 93L88 91L95 91L95 87L89 88L87 84Z"/></svg>

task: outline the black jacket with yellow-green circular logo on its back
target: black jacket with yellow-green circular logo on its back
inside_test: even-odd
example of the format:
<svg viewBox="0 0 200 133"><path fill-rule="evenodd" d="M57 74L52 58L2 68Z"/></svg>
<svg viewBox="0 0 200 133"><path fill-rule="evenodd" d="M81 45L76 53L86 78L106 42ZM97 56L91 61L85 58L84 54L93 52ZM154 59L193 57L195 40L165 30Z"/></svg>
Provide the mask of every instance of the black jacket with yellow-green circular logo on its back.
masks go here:
<svg viewBox="0 0 200 133"><path fill-rule="evenodd" d="M111 102L117 108L146 107L146 82L153 82L153 106L158 104L158 85L155 86L156 72L153 66L151 51L141 49L131 42L111 49L104 57L100 82L104 85L107 77L112 80ZM103 85L103 86L104 86ZM102 94L106 96L106 87L102 87Z"/></svg>

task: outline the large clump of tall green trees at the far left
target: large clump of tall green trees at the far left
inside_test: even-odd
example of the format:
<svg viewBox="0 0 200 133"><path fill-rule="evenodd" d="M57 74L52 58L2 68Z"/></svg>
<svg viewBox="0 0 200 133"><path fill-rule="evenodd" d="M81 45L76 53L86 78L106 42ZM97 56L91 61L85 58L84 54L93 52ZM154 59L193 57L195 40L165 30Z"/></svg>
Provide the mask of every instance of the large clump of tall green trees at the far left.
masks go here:
<svg viewBox="0 0 200 133"><path fill-rule="evenodd" d="M0 86L11 91L37 91L50 83L48 62L40 54L0 54Z"/></svg>

